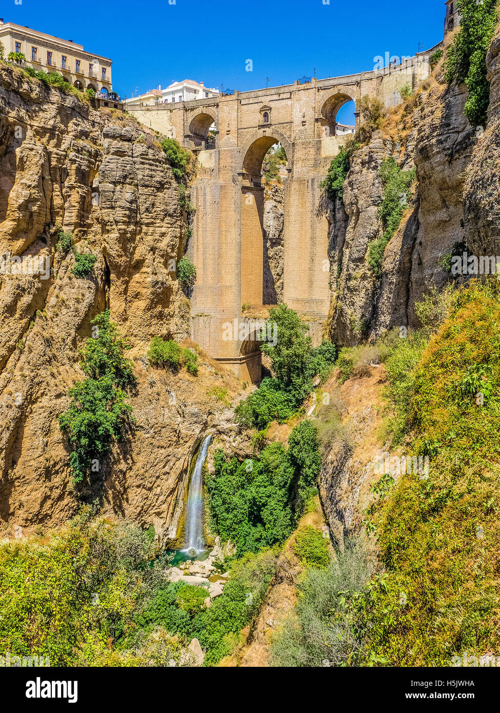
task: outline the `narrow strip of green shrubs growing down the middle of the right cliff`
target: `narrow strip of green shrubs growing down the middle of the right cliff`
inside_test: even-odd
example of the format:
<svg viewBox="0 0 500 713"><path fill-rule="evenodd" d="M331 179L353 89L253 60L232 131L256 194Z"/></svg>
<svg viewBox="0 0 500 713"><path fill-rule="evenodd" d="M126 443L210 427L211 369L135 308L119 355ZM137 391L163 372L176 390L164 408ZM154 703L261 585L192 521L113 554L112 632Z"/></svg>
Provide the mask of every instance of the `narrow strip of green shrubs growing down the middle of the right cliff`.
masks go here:
<svg viewBox="0 0 500 713"><path fill-rule="evenodd" d="M385 247L398 229L403 212L412 197L410 188L415 180L415 169L402 171L391 156L382 161L379 177L384 186L384 195L379 206L379 217L382 219L384 232L368 246L368 264L375 277L382 276Z"/></svg>

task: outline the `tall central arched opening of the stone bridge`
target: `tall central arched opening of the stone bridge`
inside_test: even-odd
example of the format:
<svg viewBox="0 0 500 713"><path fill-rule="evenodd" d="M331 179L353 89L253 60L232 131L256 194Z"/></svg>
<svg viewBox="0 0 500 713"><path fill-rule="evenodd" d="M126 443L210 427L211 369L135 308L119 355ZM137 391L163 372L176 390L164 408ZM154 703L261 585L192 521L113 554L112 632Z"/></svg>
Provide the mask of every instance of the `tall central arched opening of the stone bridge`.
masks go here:
<svg viewBox="0 0 500 713"><path fill-rule="evenodd" d="M285 147L261 136L243 159L241 200L242 309L283 299L283 235L288 176Z"/></svg>

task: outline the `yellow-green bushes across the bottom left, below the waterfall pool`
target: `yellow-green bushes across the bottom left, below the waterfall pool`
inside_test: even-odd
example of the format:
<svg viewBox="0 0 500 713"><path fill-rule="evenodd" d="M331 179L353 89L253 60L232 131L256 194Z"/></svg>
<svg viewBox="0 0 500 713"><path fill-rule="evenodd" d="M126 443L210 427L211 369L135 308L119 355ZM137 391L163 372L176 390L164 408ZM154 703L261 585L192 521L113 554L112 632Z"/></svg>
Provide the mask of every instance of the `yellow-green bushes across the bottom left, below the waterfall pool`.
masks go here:
<svg viewBox="0 0 500 713"><path fill-rule="evenodd" d="M48 656L52 667L185 665L198 637L215 665L260 611L275 555L233 563L208 609L207 588L170 583L169 568L148 531L92 520L88 508L57 533L4 542L0 650Z"/></svg>

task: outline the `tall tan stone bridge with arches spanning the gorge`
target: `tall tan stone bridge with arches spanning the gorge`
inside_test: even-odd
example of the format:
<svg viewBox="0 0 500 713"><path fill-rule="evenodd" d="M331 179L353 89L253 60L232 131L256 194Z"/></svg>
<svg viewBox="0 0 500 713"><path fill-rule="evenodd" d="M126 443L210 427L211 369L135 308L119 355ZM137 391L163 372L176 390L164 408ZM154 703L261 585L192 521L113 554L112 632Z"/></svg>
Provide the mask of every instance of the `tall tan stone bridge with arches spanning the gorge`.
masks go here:
<svg viewBox="0 0 500 713"><path fill-rule="evenodd" d="M307 83L238 92L205 101L132 108L145 125L176 138L198 158L191 190L195 207L188 255L197 279L191 301L195 342L242 379L260 381L260 342L228 324L241 308L262 309L264 188L262 160L279 142L287 155L283 247L283 300L310 324L317 343L330 307L327 218L318 211L332 157L345 136L336 135L339 109L364 96L384 106L399 89L429 76L437 47L380 70ZM355 113L359 123L359 113ZM215 124L215 138L209 129ZM232 337L228 337L232 334Z"/></svg>

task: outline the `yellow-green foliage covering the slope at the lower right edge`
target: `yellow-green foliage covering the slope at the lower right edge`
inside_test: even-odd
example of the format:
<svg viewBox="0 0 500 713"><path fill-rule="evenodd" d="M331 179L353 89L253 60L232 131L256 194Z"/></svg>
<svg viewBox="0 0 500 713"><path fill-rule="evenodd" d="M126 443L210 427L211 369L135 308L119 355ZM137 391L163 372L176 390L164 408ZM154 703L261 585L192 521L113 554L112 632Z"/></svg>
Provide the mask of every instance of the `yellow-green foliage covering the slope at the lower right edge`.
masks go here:
<svg viewBox="0 0 500 713"><path fill-rule="evenodd" d="M429 476L403 474L378 503L387 574L354 602L361 661L439 666L499 647L499 319L496 281L472 284L437 334L388 362L389 398Z"/></svg>

